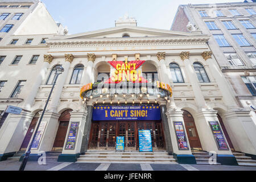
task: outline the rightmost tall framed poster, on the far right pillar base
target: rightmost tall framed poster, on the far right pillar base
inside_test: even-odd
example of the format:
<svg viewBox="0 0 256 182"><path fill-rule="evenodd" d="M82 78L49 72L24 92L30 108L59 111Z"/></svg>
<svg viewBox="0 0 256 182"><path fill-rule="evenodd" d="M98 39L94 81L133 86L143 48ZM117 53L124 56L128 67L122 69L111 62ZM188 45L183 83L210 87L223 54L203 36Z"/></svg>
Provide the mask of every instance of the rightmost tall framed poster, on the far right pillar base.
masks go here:
<svg viewBox="0 0 256 182"><path fill-rule="evenodd" d="M218 122L210 121L209 125L210 129L212 130L215 142L217 143L218 150L229 150L228 144L226 143L225 137Z"/></svg>

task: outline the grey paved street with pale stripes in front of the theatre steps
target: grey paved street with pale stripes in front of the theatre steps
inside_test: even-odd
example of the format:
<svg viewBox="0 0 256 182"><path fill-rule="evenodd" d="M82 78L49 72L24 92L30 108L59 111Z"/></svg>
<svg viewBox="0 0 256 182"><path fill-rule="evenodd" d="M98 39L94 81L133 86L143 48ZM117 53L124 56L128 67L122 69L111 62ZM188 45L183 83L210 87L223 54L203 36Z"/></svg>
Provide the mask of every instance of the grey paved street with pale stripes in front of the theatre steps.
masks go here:
<svg viewBox="0 0 256 182"><path fill-rule="evenodd" d="M127 164L127 163L59 163L47 159L46 165L28 162L26 171L256 171L249 166L211 166L196 164ZM21 162L6 160L0 162L0 171L18 171Z"/></svg>

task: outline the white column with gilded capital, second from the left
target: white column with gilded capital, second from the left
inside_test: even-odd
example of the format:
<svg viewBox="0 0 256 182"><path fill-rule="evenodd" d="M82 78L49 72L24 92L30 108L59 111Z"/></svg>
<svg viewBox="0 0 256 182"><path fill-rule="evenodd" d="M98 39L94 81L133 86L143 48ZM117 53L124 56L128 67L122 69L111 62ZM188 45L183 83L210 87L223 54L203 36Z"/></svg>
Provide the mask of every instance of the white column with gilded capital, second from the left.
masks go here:
<svg viewBox="0 0 256 182"><path fill-rule="evenodd" d="M55 88L53 90L53 96L51 100L51 104L49 105L49 109L53 112L57 111L57 107L59 105L61 92L63 90L63 85L68 76L68 69L74 59L73 55L65 55L65 63L63 64L64 72L57 78Z"/></svg>

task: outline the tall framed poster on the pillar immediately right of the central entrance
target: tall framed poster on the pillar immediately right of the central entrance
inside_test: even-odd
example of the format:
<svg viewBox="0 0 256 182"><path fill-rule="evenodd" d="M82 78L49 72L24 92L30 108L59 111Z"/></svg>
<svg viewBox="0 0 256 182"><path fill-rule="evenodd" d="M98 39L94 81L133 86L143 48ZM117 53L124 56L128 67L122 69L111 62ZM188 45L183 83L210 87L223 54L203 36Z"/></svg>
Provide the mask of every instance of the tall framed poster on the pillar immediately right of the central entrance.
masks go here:
<svg viewBox="0 0 256 182"><path fill-rule="evenodd" d="M174 122L174 129L177 137L179 150L189 150L187 137L182 122Z"/></svg>

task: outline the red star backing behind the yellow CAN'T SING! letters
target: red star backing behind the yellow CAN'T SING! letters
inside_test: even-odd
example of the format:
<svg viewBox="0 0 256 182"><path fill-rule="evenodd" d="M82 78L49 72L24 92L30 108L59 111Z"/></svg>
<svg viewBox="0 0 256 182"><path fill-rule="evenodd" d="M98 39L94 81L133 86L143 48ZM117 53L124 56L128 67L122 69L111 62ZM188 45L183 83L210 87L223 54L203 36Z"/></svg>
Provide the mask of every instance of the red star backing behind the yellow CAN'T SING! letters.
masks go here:
<svg viewBox="0 0 256 182"><path fill-rule="evenodd" d="M108 63L110 64L110 65L112 65L112 67L114 67L115 69L117 69L117 64L119 64L119 65L121 65L121 67L122 67L122 65L123 64L129 64L130 65L130 71L133 71L134 70L134 65L135 65L135 70L137 70L139 67L141 67L141 65L144 63L145 61L129 61L129 62L127 62L127 60L126 61L108 61ZM125 73L127 74L127 71L125 71ZM113 80L112 80L112 75L110 75L110 78L109 78L109 80L108 81L106 81L105 82L105 84L117 84L117 83L119 83L119 82L121 82L121 81L116 81L116 82L114 82ZM147 80L145 79L145 78L143 78L142 77L142 73L141 73L141 81L139 81L139 79L137 79L137 81L131 81L131 82L140 82L140 83L146 83L147 82ZM123 78L122 78L123 79Z"/></svg>

